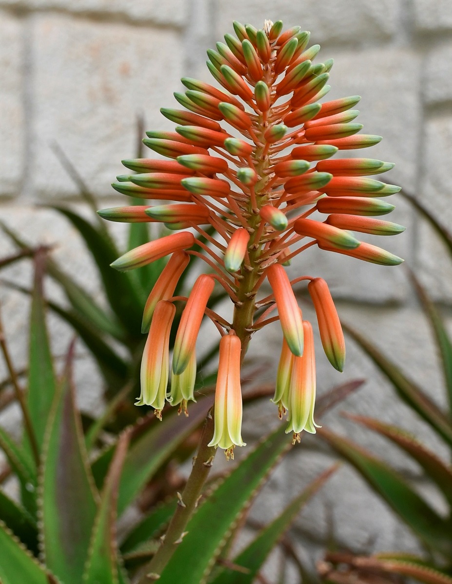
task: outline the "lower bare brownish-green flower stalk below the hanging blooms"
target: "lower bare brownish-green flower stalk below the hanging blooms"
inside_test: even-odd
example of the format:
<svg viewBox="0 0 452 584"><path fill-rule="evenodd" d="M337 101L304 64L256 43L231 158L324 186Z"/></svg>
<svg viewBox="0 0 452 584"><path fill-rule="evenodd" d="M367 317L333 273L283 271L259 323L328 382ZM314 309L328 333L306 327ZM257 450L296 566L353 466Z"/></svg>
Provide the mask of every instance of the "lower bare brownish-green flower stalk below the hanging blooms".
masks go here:
<svg viewBox="0 0 452 584"><path fill-rule="evenodd" d="M184 491L180 495L179 505L172 516L167 533L164 536L156 554L146 566L146 573L140 578L138 584L149 584L160 578L160 573L167 565L178 544L184 537L185 527L192 516L202 488L206 482L215 457L215 447L208 446L213 437L213 416L209 411L199 441L198 453L194 458L194 464Z"/></svg>

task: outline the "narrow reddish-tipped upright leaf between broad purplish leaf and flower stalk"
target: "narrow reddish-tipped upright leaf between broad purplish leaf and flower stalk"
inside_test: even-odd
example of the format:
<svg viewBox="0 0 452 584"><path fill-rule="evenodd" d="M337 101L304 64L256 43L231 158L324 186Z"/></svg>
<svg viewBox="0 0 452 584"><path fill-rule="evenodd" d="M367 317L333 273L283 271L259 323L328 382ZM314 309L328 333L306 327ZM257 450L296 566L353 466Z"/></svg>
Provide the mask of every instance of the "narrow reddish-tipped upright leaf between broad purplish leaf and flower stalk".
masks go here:
<svg viewBox="0 0 452 584"><path fill-rule="evenodd" d="M118 584L118 552L116 546L116 500L119 480L129 446L130 432L123 432L105 479L99 510L89 546L84 582Z"/></svg>

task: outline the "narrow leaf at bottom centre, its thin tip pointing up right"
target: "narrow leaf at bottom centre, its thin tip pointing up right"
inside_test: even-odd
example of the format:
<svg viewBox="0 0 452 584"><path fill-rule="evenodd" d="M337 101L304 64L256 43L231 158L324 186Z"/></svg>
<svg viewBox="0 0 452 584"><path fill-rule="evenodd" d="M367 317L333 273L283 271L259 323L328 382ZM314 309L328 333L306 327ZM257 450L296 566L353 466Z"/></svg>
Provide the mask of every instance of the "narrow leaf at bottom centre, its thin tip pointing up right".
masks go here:
<svg viewBox="0 0 452 584"><path fill-rule="evenodd" d="M260 531L256 538L234 558L233 563L246 569L246 572L233 571L223 568L222 572L212 580L211 584L252 584L257 573L262 568L268 554L277 545L280 538L294 521L303 505L315 495L335 472L338 465L334 465L323 472L284 509L280 516Z"/></svg>

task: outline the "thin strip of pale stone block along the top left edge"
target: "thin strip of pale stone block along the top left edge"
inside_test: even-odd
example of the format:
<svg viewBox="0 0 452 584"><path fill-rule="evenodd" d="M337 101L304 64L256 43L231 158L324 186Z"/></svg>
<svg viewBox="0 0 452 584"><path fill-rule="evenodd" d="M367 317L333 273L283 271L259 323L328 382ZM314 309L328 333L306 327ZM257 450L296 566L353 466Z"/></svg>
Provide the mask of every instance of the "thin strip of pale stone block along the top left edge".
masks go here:
<svg viewBox="0 0 452 584"><path fill-rule="evenodd" d="M82 15L126 16L136 22L182 26L188 14L184 0L0 0L0 6L32 10L57 9Z"/></svg>

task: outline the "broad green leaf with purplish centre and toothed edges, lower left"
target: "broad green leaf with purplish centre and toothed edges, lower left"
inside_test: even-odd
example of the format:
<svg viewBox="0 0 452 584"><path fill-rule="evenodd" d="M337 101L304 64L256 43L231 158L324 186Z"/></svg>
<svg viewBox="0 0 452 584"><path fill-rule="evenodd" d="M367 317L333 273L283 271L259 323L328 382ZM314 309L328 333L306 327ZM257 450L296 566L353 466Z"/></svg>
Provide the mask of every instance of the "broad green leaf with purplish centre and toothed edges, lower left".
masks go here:
<svg viewBox="0 0 452 584"><path fill-rule="evenodd" d="M74 345L53 404L40 479L46 565L65 584L80 584L96 515L94 482L72 381Z"/></svg>

